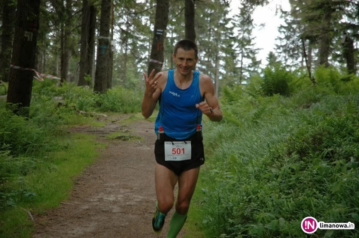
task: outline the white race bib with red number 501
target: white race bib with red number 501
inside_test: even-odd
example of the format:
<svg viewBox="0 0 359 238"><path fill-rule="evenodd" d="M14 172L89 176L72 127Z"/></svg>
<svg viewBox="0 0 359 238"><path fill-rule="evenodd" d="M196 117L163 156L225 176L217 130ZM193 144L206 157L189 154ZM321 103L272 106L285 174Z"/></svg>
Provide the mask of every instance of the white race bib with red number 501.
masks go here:
<svg viewBox="0 0 359 238"><path fill-rule="evenodd" d="M191 141L164 142L165 161L191 160L191 152Z"/></svg>

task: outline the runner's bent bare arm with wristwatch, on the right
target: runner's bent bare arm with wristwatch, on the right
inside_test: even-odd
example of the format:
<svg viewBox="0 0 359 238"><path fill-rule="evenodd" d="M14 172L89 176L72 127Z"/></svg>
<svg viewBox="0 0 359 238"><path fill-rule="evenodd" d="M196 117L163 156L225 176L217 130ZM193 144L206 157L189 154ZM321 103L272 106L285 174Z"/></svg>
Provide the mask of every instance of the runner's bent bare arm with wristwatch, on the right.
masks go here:
<svg viewBox="0 0 359 238"><path fill-rule="evenodd" d="M220 110L218 99L215 95L214 84L211 78L207 75L201 75L200 88L204 93L205 102L196 104L196 108L199 108L203 114L207 115L213 122L220 122L223 119L222 111ZM210 111L213 109L213 114Z"/></svg>

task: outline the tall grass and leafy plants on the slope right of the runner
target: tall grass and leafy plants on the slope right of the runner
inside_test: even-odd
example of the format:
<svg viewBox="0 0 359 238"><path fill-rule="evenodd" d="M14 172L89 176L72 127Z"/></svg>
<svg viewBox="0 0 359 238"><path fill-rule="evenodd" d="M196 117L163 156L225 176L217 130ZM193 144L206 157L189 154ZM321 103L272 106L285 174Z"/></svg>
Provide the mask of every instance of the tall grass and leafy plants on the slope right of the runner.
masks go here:
<svg viewBox="0 0 359 238"><path fill-rule="evenodd" d="M206 166L194 197L206 237L305 237L306 216L358 227L358 86L325 72L316 72L316 88L289 98L224 90L224 122L204 127Z"/></svg>

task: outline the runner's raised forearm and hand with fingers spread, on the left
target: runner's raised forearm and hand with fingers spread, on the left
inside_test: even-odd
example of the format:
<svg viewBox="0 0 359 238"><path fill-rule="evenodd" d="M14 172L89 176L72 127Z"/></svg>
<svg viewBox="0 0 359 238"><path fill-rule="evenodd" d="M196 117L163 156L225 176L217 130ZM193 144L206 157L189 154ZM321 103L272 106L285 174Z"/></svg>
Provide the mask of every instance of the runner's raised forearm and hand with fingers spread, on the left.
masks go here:
<svg viewBox="0 0 359 238"><path fill-rule="evenodd" d="M157 73L157 75L152 79L154 72L155 70L152 70L148 77L146 73L143 73L145 76L146 89L145 95L142 100L141 109L142 115L146 119L152 115L153 110L155 109L155 106L157 104L158 98L161 95L161 89L158 87L159 82L157 80L162 76L163 73Z"/></svg>

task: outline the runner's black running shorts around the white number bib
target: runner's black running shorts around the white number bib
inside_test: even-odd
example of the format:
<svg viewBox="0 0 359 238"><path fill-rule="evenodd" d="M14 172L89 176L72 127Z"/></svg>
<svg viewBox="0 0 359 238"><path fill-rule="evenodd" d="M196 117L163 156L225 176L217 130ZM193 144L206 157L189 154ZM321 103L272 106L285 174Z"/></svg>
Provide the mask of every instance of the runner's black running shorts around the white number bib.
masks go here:
<svg viewBox="0 0 359 238"><path fill-rule="evenodd" d="M183 161L165 161L165 141L191 141L191 159ZM164 134L163 139L156 140L155 158L158 164L165 166L169 170L172 170L177 176L179 176L183 171L197 168L204 164L204 148L202 139L197 137L197 134L194 134L192 137L184 140L177 140Z"/></svg>

